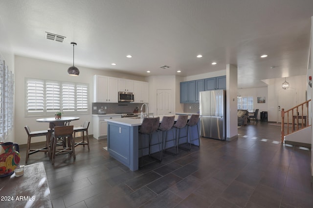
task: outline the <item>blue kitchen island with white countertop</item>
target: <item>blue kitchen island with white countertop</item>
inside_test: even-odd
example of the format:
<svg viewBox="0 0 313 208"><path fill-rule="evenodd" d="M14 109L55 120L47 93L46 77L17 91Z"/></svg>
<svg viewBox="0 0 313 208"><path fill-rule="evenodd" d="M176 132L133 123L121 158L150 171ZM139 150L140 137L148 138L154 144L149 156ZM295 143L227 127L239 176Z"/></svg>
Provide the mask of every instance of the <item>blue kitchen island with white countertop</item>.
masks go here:
<svg viewBox="0 0 313 208"><path fill-rule="evenodd" d="M170 116L170 115L164 115ZM162 121L163 116L160 117L160 122ZM178 115L175 116L175 121L177 120ZM108 122L108 151L110 156L112 156L117 161L121 162L125 166L129 167L132 171L138 169L138 158L141 157L141 152L139 153L139 133L138 129L141 126L142 119L138 117L129 117L129 118L115 118L115 119L105 119ZM185 143L187 140L187 131L186 128L181 129L180 136L184 137L180 143ZM200 132L200 119L197 125L193 126L190 130L189 136L193 139L198 137L197 130ZM174 129L172 129L175 133ZM168 137L173 137L173 133L169 132ZM152 135L152 140L157 139L157 136L161 137L161 132L158 131ZM149 139L144 139L143 146L149 146ZM192 142L192 144L200 146L198 140ZM141 144L140 144L141 146ZM169 148L174 146L174 143L167 143L163 148ZM158 151L157 148L152 148L151 153ZM144 149L142 155L148 154L148 148Z"/></svg>

